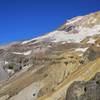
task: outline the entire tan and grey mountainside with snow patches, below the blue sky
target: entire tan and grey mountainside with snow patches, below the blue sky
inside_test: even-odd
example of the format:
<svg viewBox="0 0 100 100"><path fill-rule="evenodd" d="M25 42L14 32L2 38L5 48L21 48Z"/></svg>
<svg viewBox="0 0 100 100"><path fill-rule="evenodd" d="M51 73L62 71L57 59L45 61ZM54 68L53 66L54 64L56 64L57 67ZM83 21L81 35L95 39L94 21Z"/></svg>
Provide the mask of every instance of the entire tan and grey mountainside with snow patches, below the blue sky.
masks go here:
<svg viewBox="0 0 100 100"><path fill-rule="evenodd" d="M44 36L0 46L0 100L99 100L98 72L99 11Z"/></svg>

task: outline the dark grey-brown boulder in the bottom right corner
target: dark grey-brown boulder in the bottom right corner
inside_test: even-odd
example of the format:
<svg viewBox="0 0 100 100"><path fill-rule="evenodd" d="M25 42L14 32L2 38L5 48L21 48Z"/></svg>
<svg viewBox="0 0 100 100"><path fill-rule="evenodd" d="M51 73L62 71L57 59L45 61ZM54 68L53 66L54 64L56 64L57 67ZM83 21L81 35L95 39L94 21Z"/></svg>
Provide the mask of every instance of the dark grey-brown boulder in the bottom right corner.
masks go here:
<svg viewBox="0 0 100 100"><path fill-rule="evenodd" d="M88 82L74 82L68 89L66 100L100 100L100 73Z"/></svg>

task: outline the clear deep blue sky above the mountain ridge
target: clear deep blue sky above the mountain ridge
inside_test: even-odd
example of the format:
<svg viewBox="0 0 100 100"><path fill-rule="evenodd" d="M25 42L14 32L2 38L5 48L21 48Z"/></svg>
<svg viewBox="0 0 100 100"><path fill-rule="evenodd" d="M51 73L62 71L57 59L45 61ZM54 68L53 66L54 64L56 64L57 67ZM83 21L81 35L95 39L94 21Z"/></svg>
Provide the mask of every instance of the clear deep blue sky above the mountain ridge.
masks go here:
<svg viewBox="0 0 100 100"><path fill-rule="evenodd" d="M0 0L0 44L44 35L99 10L100 0Z"/></svg>

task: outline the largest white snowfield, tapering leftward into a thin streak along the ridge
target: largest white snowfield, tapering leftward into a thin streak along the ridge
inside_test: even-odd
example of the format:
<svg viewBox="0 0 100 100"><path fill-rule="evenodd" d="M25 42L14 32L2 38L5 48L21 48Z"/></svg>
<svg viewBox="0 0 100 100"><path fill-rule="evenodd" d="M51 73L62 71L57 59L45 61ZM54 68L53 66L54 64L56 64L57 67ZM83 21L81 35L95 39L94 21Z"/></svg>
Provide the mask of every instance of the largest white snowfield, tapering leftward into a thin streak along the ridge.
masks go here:
<svg viewBox="0 0 100 100"><path fill-rule="evenodd" d="M56 31L50 32L47 35L44 35L44 36L41 36L38 38L34 38L32 40L29 40L29 41L24 41L24 42L22 42L22 44L29 43L33 40L37 40L37 42L43 41L45 38L50 40L50 42L80 43L80 41L82 41L87 36L93 36L96 34L100 34L100 25L95 25L92 28L86 28L86 27L80 26L80 27L77 27L76 29L79 32L77 34L69 34L68 32L65 32L65 31L56 30ZM92 43L94 41L90 40L89 42Z"/></svg>

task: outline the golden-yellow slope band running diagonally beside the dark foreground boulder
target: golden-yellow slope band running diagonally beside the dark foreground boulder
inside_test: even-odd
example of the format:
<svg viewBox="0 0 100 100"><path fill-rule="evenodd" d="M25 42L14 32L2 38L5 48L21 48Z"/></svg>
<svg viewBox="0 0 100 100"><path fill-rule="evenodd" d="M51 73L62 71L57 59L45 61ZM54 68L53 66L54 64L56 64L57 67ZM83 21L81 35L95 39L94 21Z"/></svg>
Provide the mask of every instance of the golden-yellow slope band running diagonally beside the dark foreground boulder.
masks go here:
<svg viewBox="0 0 100 100"><path fill-rule="evenodd" d="M74 81L88 81L90 80L97 72L100 72L100 59L96 59L93 62L81 68L77 69L74 73L69 75L60 85L55 88L55 91L41 97L38 100L59 100L60 97L65 98L66 90L69 85Z"/></svg>

